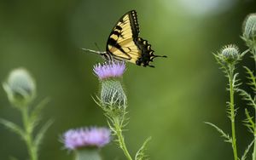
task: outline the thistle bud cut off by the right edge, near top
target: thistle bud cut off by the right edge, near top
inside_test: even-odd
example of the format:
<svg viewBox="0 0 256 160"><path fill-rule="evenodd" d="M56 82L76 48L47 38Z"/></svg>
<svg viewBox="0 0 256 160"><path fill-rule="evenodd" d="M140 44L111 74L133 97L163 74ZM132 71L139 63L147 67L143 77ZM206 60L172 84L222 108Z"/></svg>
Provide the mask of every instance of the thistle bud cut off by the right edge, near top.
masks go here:
<svg viewBox="0 0 256 160"><path fill-rule="evenodd" d="M244 21L243 37L245 39L255 40L256 37L256 14L249 14Z"/></svg>

